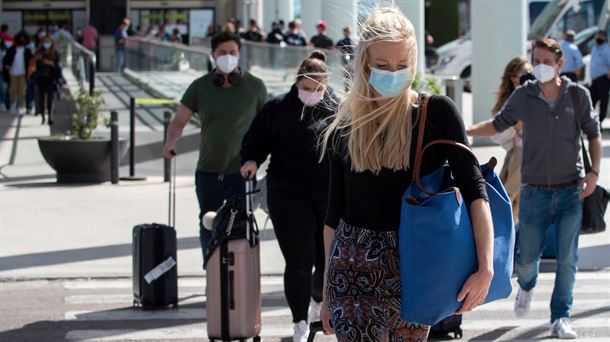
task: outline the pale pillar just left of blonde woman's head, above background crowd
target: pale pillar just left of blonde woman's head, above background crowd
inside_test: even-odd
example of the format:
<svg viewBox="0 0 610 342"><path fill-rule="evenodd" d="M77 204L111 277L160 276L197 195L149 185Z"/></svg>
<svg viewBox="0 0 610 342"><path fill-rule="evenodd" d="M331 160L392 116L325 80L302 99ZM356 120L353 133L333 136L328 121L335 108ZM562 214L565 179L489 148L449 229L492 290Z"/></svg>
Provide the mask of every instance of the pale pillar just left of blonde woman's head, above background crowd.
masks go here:
<svg viewBox="0 0 610 342"><path fill-rule="evenodd" d="M343 38L345 26L350 26L352 32L358 32L358 1L324 0L322 1L322 19L326 20L326 35L334 42Z"/></svg>

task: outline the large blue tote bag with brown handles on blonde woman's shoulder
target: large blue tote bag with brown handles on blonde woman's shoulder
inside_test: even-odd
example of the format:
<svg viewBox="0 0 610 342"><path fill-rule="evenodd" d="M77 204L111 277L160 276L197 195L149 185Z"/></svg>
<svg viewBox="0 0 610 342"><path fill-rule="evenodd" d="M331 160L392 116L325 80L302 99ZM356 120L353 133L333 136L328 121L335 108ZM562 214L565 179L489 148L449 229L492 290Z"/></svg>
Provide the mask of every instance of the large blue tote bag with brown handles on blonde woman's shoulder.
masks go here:
<svg viewBox="0 0 610 342"><path fill-rule="evenodd" d="M425 151L448 144L469 152L470 148L450 140L435 140L422 148L426 124L427 98L420 105L420 128L413 169L414 181L403 195L400 227L400 277L403 283L401 318L434 325L461 306L457 295L470 275L478 269L470 213L449 165L421 177ZM485 303L508 297L515 230L510 199L493 172L496 159L480 166L494 226L494 276Z"/></svg>

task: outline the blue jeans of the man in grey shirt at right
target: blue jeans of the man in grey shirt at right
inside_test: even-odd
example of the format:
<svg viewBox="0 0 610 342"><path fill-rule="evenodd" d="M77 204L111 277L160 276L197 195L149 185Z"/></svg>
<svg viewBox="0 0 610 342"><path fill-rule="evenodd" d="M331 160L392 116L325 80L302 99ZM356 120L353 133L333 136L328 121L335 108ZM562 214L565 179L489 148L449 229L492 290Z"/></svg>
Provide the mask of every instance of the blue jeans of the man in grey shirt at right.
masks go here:
<svg viewBox="0 0 610 342"><path fill-rule="evenodd" d="M515 270L522 289L530 291L536 286L546 231L551 223L557 229L557 271L551 297L551 321L570 317L578 271L578 234L582 224L580 192L577 185L559 189L521 186Z"/></svg>

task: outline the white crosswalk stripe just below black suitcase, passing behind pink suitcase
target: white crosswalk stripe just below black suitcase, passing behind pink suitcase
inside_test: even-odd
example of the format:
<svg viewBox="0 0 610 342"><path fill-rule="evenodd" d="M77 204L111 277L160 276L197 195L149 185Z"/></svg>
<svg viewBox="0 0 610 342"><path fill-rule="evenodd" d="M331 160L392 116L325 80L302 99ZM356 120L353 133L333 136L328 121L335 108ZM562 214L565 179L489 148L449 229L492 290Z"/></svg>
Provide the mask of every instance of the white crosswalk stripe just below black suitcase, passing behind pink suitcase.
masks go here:
<svg viewBox="0 0 610 342"><path fill-rule="evenodd" d="M290 316L290 309L284 306L263 306L263 317ZM64 314L66 321L124 321L124 320L180 320L180 319L205 319L207 311L204 308L194 309L167 309L167 310L141 310L137 308L116 309L105 311L68 311Z"/></svg>

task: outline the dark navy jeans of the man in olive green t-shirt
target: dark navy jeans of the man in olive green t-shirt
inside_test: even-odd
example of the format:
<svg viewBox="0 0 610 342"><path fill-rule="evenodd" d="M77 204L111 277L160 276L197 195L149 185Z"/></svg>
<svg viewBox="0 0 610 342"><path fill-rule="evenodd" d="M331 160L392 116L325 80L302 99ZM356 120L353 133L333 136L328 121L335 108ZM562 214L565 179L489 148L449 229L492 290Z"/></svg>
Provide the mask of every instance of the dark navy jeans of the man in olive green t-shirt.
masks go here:
<svg viewBox="0 0 610 342"><path fill-rule="evenodd" d="M199 201L199 241L205 260L205 249L208 241L212 239L212 233L203 227L203 215L218 210L225 199L243 194L246 191L246 183L239 173L219 175L196 171L195 191Z"/></svg>

